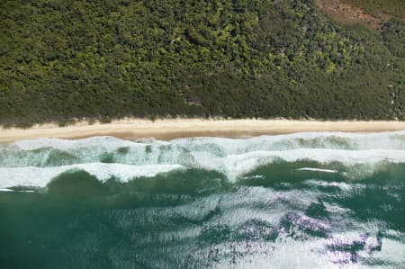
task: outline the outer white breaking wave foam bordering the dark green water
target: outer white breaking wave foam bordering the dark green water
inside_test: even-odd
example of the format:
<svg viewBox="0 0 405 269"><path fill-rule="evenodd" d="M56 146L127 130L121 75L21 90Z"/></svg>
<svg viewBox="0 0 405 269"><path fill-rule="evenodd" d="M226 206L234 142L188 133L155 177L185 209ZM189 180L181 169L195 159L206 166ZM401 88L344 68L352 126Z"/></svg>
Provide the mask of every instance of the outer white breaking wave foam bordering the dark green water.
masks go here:
<svg viewBox="0 0 405 269"><path fill-rule="evenodd" d="M0 188L15 185L44 187L49 181L70 169L81 169L105 181L112 176L126 182L139 176L155 176L180 167L198 167L215 170L226 175L230 181L238 179L239 175L247 174L258 166L271 165L275 161L297 162L313 161L322 165L338 162L347 167L366 165L363 174L374 173L378 165L385 162L405 163L405 150L341 150L325 148L300 148L283 151L254 151L226 157L214 157L210 154L196 154L188 158L152 158L150 165L124 165L86 163L71 166L54 167L0 167ZM306 168L308 170L309 168ZM327 173L336 173L332 169L311 168ZM359 176L359 171L356 171Z"/></svg>

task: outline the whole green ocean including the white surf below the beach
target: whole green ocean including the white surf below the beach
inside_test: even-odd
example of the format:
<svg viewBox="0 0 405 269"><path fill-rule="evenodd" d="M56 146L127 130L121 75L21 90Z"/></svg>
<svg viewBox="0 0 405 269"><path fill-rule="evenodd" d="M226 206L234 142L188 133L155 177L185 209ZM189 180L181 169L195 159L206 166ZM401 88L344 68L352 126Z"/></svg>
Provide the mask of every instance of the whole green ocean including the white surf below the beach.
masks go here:
<svg viewBox="0 0 405 269"><path fill-rule="evenodd" d="M405 131L0 145L0 268L405 268Z"/></svg>

